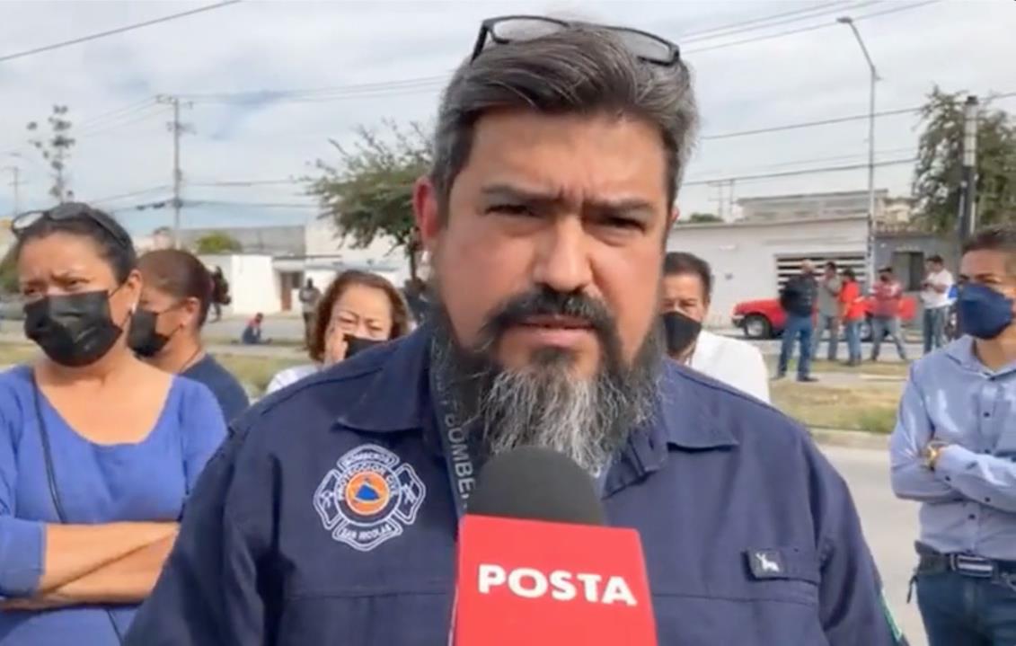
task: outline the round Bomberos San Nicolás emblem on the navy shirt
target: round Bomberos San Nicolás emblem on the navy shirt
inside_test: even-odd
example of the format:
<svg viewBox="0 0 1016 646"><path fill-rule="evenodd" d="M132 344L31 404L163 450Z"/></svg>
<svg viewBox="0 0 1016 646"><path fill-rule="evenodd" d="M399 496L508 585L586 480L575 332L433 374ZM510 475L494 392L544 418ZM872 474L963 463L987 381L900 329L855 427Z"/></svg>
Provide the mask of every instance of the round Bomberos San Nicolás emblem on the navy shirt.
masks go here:
<svg viewBox="0 0 1016 646"><path fill-rule="evenodd" d="M370 552L416 522L426 495L411 466L388 449L365 444L325 474L314 492L314 509L332 538Z"/></svg>

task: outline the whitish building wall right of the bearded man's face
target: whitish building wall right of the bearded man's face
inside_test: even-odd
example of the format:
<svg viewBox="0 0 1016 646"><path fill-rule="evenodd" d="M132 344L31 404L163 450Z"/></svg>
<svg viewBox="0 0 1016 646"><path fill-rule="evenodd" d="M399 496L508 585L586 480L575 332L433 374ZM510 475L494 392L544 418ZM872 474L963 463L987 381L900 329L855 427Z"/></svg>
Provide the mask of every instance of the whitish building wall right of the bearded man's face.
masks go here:
<svg viewBox="0 0 1016 646"><path fill-rule="evenodd" d="M779 257L823 261L863 256L866 232L864 217L680 224L671 232L666 250L693 253L712 266L706 323L726 327L737 303L777 297Z"/></svg>

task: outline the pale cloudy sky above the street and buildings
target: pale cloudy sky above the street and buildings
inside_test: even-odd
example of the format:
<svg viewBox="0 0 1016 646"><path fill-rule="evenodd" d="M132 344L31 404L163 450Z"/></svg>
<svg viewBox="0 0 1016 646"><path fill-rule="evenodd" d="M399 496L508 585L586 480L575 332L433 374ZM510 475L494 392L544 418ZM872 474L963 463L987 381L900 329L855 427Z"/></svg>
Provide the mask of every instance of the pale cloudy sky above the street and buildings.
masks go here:
<svg viewBox="0 0 1016 646"><path fill-rule="evenodd" d="M3 0L0 59L214 2ZM75 196L113 210L135 234L170 224L168 209L135 207L172 195L172 110L153 98L179 95L188 127L183 196L194 204L182 211L184 227L307 221L314 202L293 180L313 174L316 159L336 160L329 140L348 144L358 126L383 132L384 120L433 123L443 83L481 20L509 13L581 16L681 46L703 135L679 197L685 213L722 207L729 215L729 178L743 178L734 199L867 188L864 168L744 179L864 165L865 120L714 138L867 114L869 68L838 16L856 20L878 68L879 111L919 106L935 84L981 96L1016 92L1016 3L1003 0L246 0L0 60L0 214L14 209L11 167L19 170L21 210L50 203L52 180L25 124L45 121L59 104L69 107L77 140L68 163ZM306 89L315 91L289 91ZM1016 111L1016 96L995 105ZM918 127L913 114L878 119L877 159L912 158ZM905 163L876 174L879 188L898 195L909 193L911 179Z"/></svg>

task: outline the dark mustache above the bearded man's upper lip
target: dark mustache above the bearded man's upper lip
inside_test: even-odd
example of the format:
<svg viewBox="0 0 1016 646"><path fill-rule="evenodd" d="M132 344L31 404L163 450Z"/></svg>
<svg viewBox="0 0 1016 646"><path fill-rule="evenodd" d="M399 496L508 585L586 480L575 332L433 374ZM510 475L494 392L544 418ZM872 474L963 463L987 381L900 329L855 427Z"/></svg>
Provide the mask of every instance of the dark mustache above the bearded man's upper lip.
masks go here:
<svg viewBox="0 0 1016 646"><path fill-rule="evenodd" d="M483 344L496 342L510 328L523 325L534 316L580 319L601 341L613 343L617 339L617 323L604 302L577 292L565 293L542 286L512 297L495 310L481 328Z"/></svg>

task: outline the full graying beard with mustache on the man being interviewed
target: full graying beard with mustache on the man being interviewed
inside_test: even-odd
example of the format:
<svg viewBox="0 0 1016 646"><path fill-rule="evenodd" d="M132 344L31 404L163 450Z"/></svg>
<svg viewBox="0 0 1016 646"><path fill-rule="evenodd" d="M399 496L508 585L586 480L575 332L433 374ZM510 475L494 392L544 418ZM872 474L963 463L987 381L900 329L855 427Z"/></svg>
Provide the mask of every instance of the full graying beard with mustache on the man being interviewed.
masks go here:
<svg viewBox="0 0 1016 646"><path fill-rule="evenodd" d="M437 293L435 290L435 293ZM588 321L601 348L599 369L576 379L573 353L566 348L536 350L530 365L508 370L495 359L501 336L524 318L559 314ZM621 357L617 325L606 305L584 295L536 289L509 300L488 318L472 347L455 339L447 310L434 307L432 370L485 452L498 455L522 446L553 449L592 474L618 454L632 429L651 414L663 358L657 323L632 365Z"/></svg>

